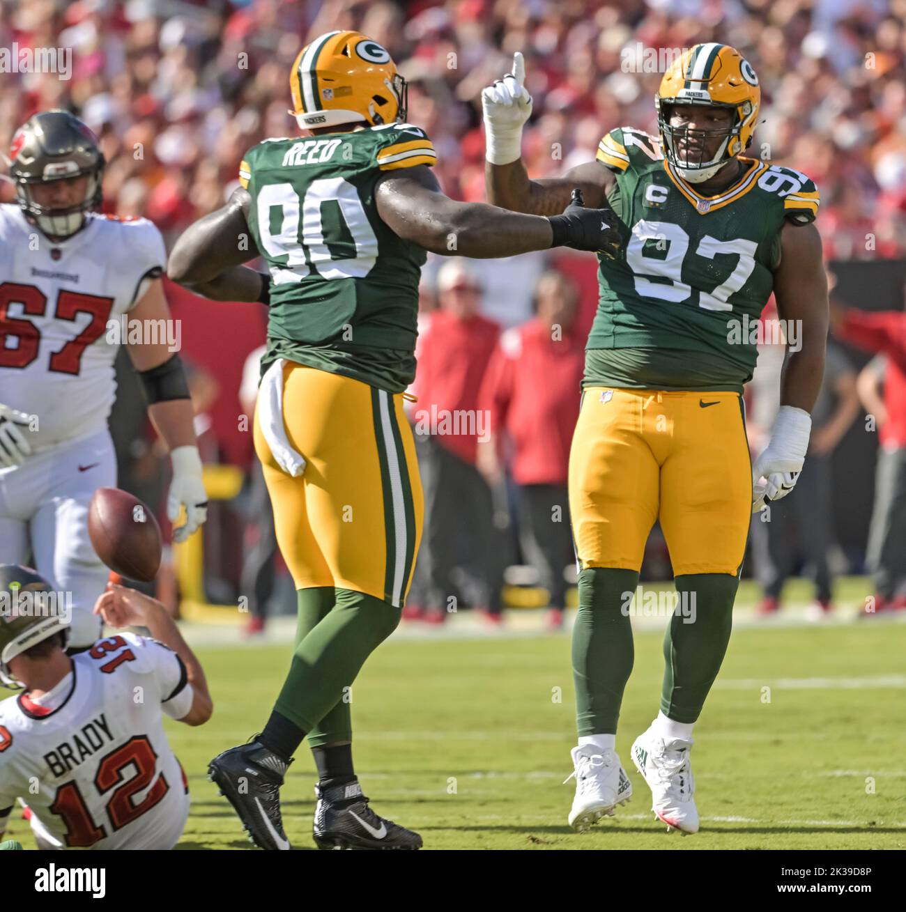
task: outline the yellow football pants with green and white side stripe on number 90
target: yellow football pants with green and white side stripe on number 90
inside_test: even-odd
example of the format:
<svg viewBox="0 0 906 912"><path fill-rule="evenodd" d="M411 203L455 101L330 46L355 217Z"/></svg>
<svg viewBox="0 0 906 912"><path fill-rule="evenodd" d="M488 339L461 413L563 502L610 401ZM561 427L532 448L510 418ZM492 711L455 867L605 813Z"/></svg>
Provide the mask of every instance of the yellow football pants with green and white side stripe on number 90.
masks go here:
<svg viewBox="0 0 906 912"><path fill-rule="evenodd" d="M306 459L277 465L255 411L255 452L276 540L297 589L336 586L401 607L422 538L422 482L402 394L287 363L286 440Z"/></svg>

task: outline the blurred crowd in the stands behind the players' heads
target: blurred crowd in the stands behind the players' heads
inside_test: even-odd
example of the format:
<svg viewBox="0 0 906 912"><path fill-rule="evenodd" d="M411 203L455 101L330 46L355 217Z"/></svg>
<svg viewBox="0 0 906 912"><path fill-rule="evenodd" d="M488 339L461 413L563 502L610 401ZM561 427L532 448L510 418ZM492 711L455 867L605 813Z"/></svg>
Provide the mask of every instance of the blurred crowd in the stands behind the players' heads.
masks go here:
<svg viewBox="0 0 906 912"><path fill-rule="evenodd" d="M906 0L5 0L0 46L71 47L70 78L0 80L0 148L37 109L99 133L111 211L172 239L224 200L243 152L295 129L288 73L312 37L358 28L410 81L410 119L444 190L484 198L481 89L526 55L534 176L594 158L601 135L654 129L651 51L723 41L755 67L751 154L806 170L828 258L906 249ZM6 189L8 193L8 188Z"/></svg>

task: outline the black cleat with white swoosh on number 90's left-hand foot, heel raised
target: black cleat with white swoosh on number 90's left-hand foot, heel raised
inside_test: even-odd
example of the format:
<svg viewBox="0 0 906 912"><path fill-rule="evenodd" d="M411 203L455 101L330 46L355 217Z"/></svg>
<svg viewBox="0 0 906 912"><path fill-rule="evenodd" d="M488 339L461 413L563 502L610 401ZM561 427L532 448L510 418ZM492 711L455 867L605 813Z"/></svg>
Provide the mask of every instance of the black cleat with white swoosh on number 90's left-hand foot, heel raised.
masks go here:
<svg viewBox="0 0 906 912"><path fill-rule="evenodd" d="M208 779L220 786L259 849L291 847L280 817L280 786L289 763L261 741L252 741L218 754L208 764Z"/></svg>

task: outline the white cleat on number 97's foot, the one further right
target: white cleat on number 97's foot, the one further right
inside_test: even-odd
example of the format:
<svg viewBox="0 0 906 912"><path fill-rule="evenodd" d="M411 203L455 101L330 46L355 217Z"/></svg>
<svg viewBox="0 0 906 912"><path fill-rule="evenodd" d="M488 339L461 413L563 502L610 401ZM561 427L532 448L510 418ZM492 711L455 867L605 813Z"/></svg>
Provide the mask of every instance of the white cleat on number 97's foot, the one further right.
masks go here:
<svg viewBox="0 0 906 912"><path fill-rule="evenodd" d="M693 742L664 740L649 729L632 745L632 761L651 788L651 810L667 832L684 836L698 833L698 810L693 794L695 780L689 763Z"/></svg>

